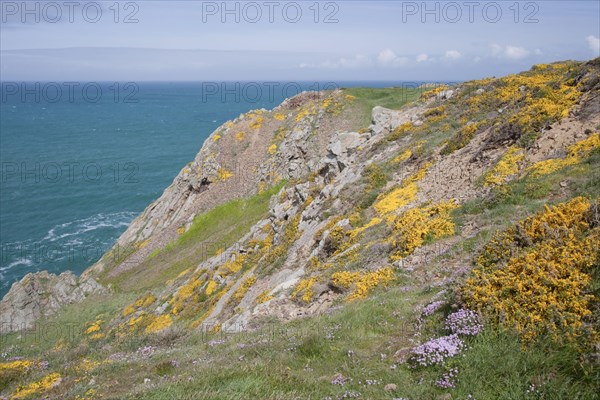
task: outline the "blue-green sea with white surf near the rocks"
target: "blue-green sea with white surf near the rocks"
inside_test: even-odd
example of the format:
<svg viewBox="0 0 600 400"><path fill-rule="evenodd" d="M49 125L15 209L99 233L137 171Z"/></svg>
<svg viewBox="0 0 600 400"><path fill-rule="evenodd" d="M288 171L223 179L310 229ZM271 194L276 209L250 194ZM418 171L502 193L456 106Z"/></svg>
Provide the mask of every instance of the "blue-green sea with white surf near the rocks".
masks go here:
<svg viewBox="0 0 600 400"><path fill-rule="evenodd" d="M29 272L93 264L225 121L327 87L85 85L1 84L0 298Z"/></svg>

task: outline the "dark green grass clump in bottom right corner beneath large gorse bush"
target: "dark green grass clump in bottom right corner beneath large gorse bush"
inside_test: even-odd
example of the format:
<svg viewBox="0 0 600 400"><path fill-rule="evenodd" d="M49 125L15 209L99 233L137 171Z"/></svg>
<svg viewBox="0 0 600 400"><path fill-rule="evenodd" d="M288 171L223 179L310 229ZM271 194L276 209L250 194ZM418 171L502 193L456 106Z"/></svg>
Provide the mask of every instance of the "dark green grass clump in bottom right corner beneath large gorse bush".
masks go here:
<svg viewBox="0 0 600 400"><path fill-rule="evenodd" d="M576 349L542 338L524 347L507 331L487 329L456 360L459 383L453 398L598 399L600 369L582 364ZM527 394L530 385L537 388Z"/></svg>

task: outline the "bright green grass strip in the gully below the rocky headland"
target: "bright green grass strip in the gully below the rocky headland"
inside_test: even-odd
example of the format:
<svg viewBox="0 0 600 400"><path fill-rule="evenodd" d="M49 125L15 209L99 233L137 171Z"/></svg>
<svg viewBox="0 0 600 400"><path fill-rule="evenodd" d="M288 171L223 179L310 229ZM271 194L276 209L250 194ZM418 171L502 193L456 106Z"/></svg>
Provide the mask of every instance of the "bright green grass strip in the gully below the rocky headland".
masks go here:
<svg viewBox="0 0 600 400"><path fill-rule="evenodd" d="M284 185L285 182L263 193L231 200L197 216L177 241L162 250L154 250L136 268L104 283L112 283L123 291L148 290L163 285L188 268L195 268L214 256L217 250L233 245L264 218L271 196Z"/></svg>

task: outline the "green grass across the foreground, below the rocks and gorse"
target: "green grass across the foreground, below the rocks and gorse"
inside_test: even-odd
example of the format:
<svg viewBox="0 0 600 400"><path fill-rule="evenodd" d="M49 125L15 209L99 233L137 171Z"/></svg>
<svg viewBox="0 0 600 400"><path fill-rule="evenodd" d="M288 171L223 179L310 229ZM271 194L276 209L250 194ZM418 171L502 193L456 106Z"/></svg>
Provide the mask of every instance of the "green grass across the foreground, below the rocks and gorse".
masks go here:
<svg viewBox="0 0 600 400"><path fill-rule="evenodd" d="M82 396L92 377L101 398L119 400L322 400L346 392L382 400L437 400L447 393L454 399L466 399L469 394L475 399L598 398L599 371L581 363L576 349L544 338L525 348L513 333L489 325L479 336L466 339L468 348L461 356L448 360L448 367L459 369L454 389L435 386L444 367L414 369L398 364L394 353L414 346L411 339L419 306L427 304L434 294L416 286L408 291L377 289L373 297L345 304L330 314L272 322L257 332L241 334L188 331L175 342L165 342L160 336L140 336L105 347L77 337L69 343L68 351L56 351L50 342L40 347L12 340L10 344L17 349L12 349L11 355L48 360L50 371L66 377L50 392L51 398L61 399ZM117 296L110 300L111 306L85 302L65 310L58 321L69 317L93 320L98 314L115 312L130 300ZM445 307L427 317L417 343L447 334L442 321L449 311L450 307ZM208 345L216 339L225 342ZM137 355L136 350L146 345L157 347L151 358ZM102 364L88 372L74 367L84 357L102 361L118 352L128 355L125 361ZM344 386L331 383L338 373L348 379ZM32 379L33 375L26 378ZM145 379L150 383L145 384ZM366 380L376 383L368 385ZM385 391L389 383L397 390ZM533 396L527 394L531 383L539 385ZM9 383L7 393L14 385Z"/></svg>

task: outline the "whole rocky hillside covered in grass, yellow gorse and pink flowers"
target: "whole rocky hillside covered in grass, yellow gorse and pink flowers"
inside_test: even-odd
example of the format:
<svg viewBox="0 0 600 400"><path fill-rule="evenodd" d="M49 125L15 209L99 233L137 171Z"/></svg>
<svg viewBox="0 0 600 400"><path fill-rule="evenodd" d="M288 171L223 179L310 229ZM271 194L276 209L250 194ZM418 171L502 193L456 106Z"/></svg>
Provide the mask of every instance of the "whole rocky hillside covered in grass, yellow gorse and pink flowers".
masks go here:
<svg viewBox="0 0 600 400"><path fill-rule="evenodd" d="M251 111L0 398L600 398L599 133L600 59Z"/></svg>

